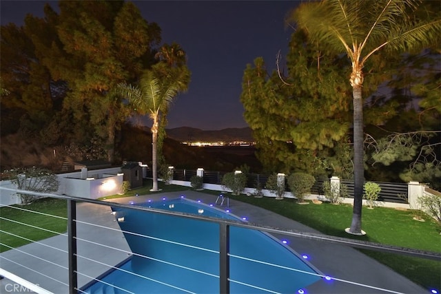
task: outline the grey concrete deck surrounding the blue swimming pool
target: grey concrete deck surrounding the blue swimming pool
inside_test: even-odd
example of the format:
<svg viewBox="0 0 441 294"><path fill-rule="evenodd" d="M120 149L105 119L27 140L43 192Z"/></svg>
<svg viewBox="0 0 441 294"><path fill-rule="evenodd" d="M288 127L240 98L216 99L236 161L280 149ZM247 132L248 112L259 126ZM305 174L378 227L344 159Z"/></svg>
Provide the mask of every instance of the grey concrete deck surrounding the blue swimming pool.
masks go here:
<svg viewBox="0 0 441 294"><path fill-rule="evenodd" d="M203 191L181 191L171 193L155 193L148 196L136 196L130 198L116 198L109 200L116 203L146 202L147 200L161 200L165 197L178 198L184 195L191 200L201 200L205 204L216 201L217 196L203 193ZM216 207L219 207L218 205ZM234 196L229 198L229 209L236 216L246 216L252 224L259 224L274 227L282 230L295 230L309 233L318 233L303 224L279 216L276 213L254 207L234 200ZM114 216L110 213L110 207L97 204L80 203L77 205L77 224L78 238L91 240L93 243L79 240L79 286L84 286L92 277L101 275L107 271L108 266L104 264L116 265L125 260L130 252L130 248L123 238L120 231L103 229L110 227L119 229L114 221ZM83 223L84 222L84 223ZM98 226L85 224L90 222ZM102 227L99 227L102 226ZM325 275L334 277L334 280L321 280L307 287L307 293L429 293L427 289L421 288L407 278L392 271L387 266L380 264L356 249L338 244L316 242L307 239L294 237L284 237L299 254L309 255L309 262ZM20 251L10 250L0 254L0 268L5 269L25 278L30 282L39 284L41 287L52 293L68 293L68 243L65 235L48 238L41 241L50 247L32 243L21 246ZM97 244L106 244L107 247ZM56 249L52 249L56 248ZM116 249L116 251L115 251ZM26 253L38 255L40 259L33 258ZM90 259L98 260L103 264L96 264ZM397 255L400 258L400 255ZM9 260L14 260L23 266L14 264ZM44 262L49 260L51 264ZM338 279L338 280L336 280ZM8 293L12 282L7 279L0 280L0 293ZM12 283L13 284L13 283ZM9 288L6 288L9 285ZM363 285L368 285L363 286ZM293 289L293 292L296 289ZM19 293L14 291L14 293ZM23 291L22 293L29 293ZM142 294L142 293L141 293Z"/></svg>

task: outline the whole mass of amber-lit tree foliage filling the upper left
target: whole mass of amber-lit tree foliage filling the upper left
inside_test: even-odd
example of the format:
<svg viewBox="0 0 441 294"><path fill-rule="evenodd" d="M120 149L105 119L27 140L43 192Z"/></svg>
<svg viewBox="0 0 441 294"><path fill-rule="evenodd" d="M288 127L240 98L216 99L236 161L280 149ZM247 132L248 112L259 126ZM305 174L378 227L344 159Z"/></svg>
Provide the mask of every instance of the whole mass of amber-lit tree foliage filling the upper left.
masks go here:
<svg viewBox="0 0 441 294"><path fill-rule="evenodd" d="M182 49L161 45L161 28L130 1L60 1L59 13L48 4L44 12L41 19L28 14L22 27L1 27L2 136L93 148L113 162L121 124L132 115L112 94L116 85L139 81L155 64L173 74L186 59L158 53Z"/></svg>

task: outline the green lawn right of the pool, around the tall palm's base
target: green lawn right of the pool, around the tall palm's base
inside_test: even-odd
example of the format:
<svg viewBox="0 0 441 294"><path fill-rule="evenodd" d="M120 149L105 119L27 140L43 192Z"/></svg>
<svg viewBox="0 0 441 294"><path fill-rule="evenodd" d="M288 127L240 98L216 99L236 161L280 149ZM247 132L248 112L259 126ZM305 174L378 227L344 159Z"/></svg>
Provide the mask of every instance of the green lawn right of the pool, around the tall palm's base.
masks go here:
<svg viewBox="0 0 441 294"><path fill-rule="evenodd" d="M231 198L274 211L327 235L441 252L440 225L429 216L424 216L425 222L413 220L412 211L363 207L362 229L367 235L355 236L344 231L351 224L352 207L349 204L300 205L292 199L275 200L243 195ZM362 252L424 288L441 289L441 262L378 251Z"/></svg>

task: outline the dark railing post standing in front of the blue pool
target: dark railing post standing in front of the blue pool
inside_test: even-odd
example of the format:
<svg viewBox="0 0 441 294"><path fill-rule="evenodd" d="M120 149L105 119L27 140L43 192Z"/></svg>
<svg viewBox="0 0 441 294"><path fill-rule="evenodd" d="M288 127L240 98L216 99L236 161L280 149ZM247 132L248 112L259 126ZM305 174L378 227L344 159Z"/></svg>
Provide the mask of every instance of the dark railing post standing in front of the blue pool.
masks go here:
<svg viewBox="0 0 441 294"><path fill-rule="evenodd" d="M229 225L221 222L219 226L220 293L229 294Z"/></svg>

